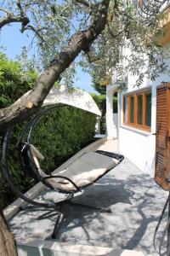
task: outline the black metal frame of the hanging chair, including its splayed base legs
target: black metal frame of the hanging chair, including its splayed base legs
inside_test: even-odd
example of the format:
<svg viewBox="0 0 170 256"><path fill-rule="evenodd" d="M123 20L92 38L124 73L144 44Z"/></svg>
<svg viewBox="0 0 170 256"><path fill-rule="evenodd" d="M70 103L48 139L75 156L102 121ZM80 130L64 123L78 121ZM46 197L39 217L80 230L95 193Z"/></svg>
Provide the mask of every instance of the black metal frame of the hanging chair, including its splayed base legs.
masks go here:
<svg viewBox="0 0 170 256"><path fill-rule="evenodd" d="M15 195L17 195L18 197L20 197L21 199L23 199L24 201L26 201L27 203L32 205L31 207L27 207L27 209L34 209L34 208L37 209L37 207L40 207L40 208L42 208L43 211L47 211L46 213L43 213L39 217L39 219L40 218L47 218L48 216L51 216L51 214L56 214L56 213L58 214L58 218L57 218L56 223L54 225L54 231L53 231L53 234L52 234L52 238L55 238L57 236L57 233L58 233L58 230L59 230L59 224L62 220L61 210L62 210L62 207L65 204L76 206L76 207L88 207L88 208L91 208L91 209L104 211L104 212L111 212L110 209L105 209L105 208L102 208L102 207L92 207L92 206L88 206L88 205L84 205L84 204L81 204L81 203L74 202L74 201L72 201L72 198L73 198L75 193L77 193L78 191L81 191L82 189L88 187L90 184L95 183L100 177L103 177L107 172L111 171L112 168L107 170L103 175L100 175L99 177L97 177L94 180L94 182L89 183L89 184L87 184L83 187L78 187L76 183L74 183L70 178L65 177L65 176L49 175L47 177L38 177L37 166L35 165L35 162L34 162L34 160L32 159L32 156L31 156L31 148L30 148L31 135L32 135L32 132L34 131L38 121L40 119L42 119L42 117L44 117L44 115L46 113L48 113L49 111L54 110L55 108L59 108L59 107L67 107L67 105L59 103L59 104L54 105L52 107L42 109L42 111L40 111L40 113L37 113L35 115L35 117L33 117L27 123L26 128L22 132L22 134L20 135L16 146L17 146L17 149L18 149L18 152L19 152L21 166L28 167L26 169L31 169L31 172L35 174L35 176L37 177L37 180L44 183L44 185L46 185L50 189L57 190L58 192L61 192L61 193L69 194L65 200L54 202L54 204L52 204L52 203L50 203L50 204L49 203L47 203L47 204L46 203L41 203L41 202L38 202L38 201L31 200L26 195L23 195L18 188L16 188L16 186L14 185L14 182L13 182L11 176L10 176L10 173L8 171L8 145L10 143L10 137L11 137L14 126L11 126L10 128L8 128L8 130L5 133L5 136L4 136L4 139L3 139L3 157L2 157L3 176L7 179L8 183L9 183L11 189L13 189ZM25 137L26 133L28 133L27 139L26 139L26 142L23 142L23 138ZM25 156L24 156L24 154L22 154L23 150L26 150L26 151L24 151L24 153L26 153ZM122 160L124 159L122 154L114 154L114 153L106 152L106 151L102 151L102 150L97 150L96 153L105 154L107 156L110 156L111 158L116 158L116 160L119 161L117 163L117 165L120 164L120 162L122 162ZM26 162L25 162L24 157L26 157ZM28 165L27 165L27 162L29 163ZM64 191L64 190L61 190L61 189L54 189L48 182L46 182L46 180L48 180L49 178L53 178L53 177L59 177L59 178L66 179L67 181L72 183L72 185L75 187L75 189L73 191ZM58 209L58 207L59 207L59 209ZM41 209L39 209L39 210L41 210ZM52 212L55 212L55 213L52 213Z"/></svg>

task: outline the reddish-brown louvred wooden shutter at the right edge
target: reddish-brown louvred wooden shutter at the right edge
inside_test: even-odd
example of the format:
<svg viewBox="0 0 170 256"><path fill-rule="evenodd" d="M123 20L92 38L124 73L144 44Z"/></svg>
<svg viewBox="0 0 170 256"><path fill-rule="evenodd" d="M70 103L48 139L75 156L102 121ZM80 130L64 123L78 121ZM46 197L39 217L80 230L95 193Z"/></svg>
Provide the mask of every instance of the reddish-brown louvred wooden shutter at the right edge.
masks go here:
<svg viewBox="0 0 170 256"><path fill-rule="evenodd" d="M156 96L156 183L168 189L170 168L170 84L157 87Z"/></svg>

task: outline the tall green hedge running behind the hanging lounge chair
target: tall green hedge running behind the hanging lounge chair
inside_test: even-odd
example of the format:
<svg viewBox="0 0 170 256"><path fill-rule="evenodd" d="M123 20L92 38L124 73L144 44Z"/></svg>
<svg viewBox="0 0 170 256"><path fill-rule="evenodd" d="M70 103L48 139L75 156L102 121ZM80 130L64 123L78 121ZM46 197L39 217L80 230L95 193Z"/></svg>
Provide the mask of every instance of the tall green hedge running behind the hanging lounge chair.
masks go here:
<svg viewBox="0 0 170 256"><path fill-rule="evenodd" d="M31 88L37 74L34 71L29 73L30 76L22 71L19 63L8 61L5 55L0 54L0 108L8 106ZM46 172L54 171L65 160L91 143L94 140L95 124L96 116L93 113L74 107L58 108L48 113L38 123L31 141L45 157L41 163L42 169ZM15 149L17 138L25 125L26 122L16 125L9 147L9 169L14 183L23 192L35 183L32 177L26 176L25 170L20 169ZM3 133L0 134L0 143L3 143ZM8 187L8 183L3 182L0 192L1 207L6 207L9 202L14 201L15 195Z"/></svg>

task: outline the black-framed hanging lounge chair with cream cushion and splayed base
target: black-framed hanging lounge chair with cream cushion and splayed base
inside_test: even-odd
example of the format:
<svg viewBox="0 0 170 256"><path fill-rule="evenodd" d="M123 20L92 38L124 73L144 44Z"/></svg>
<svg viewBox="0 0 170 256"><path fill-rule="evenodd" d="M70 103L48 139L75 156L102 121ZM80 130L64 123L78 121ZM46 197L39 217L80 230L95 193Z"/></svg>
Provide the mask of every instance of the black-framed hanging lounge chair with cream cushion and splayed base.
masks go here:
<svg viewBox="0 0 170 256"><path fill-rule="evenodd" d="M8 145L10 137L12 136L13 127L8 128L3 140L3 175L6 177L11 189L14 193L31 204L25 209L35 209L46 211L40 218L48 218L48 216L55 212L57 214L57 220L54 225L54 231L52 238L57 236L59 230L59 224L62 218L62 207L66 205L73 205L76 207L88 207L99 211L111 212L110 209L102 207L93 207L83 205L82 203L74 202L73 196L88 187L90 184L95 183L100 177L103 177L107 172L111 171L115 166L120 164L124 157L122 154L115 154L112 152L106 152L97 150L82 154L80 158L73 161L68 168L60 172L53 172L53 174L46 174L43 171L43 167L40 165L39 160L45 160L44 156L39 150L31 143L32 132L35 130L37 124L44 119L50 111L56 108L68 107L65 104L57 104L52 107L43 108L37 113L26 125L24 131L20 135L17 143L17 150L19 153L20 164L23 167L24 172L29 172L31 177L37 182L42 182L49 189L53 189L59 193L67 194L67 197L63 201L52 203L42 203L39 201L31 200L23 195L20 190L15 186L12 177L8 170Z"/></svg>

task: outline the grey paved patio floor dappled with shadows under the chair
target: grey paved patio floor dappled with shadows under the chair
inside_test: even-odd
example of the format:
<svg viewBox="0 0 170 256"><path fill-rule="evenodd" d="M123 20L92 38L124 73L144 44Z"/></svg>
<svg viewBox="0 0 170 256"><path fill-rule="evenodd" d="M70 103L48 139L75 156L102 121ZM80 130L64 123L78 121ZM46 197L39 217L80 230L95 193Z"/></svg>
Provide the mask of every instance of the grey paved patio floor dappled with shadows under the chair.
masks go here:
<svg viewBox="0 0 170 256"><path fill-rule="evenodd" d="M58 201L61 198L63 195L49 189L37 197L39 201ZM110 207L112 212L65 206L65 218L56 241L66 245L124 248L144 255L158 255L152 239L166 199L167 192L125 159L98 183L75 196L75 201ZM11 219L10 226L17 241L51 240L56 217L37 220L39 214L22 211ZM163 224L165 222L166 219Z"/></svg>

